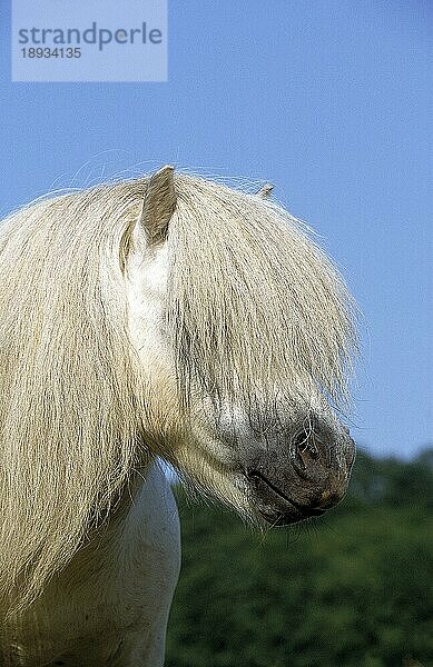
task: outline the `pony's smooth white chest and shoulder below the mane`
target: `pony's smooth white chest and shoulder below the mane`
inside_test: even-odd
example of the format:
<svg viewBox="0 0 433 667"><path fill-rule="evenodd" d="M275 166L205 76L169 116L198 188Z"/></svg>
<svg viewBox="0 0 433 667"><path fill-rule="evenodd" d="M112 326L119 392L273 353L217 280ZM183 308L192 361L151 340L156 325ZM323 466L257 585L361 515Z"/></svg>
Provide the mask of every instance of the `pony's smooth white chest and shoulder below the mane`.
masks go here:
<svg viewBox="0 0 433 667"><path fill-rule="evenodd" d="M176 502L157 464L140 472L121 502L31 614L2 635L0 665L61 659L67 667L163 667L180 566Z"/></svg>

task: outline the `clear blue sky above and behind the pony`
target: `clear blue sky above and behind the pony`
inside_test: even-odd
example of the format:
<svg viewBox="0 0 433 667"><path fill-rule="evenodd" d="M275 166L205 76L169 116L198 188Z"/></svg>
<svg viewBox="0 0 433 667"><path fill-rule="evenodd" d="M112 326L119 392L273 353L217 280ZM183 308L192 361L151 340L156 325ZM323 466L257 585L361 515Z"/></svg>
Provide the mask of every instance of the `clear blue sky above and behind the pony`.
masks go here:
<svg viewBox="0 0 433 667"><path fill-rule="evenodd" d="M270 180L363 311L355 439L433 440L427 1L169 1L167 83L11 83L0 17L0 215L165 162Z"/></svg>

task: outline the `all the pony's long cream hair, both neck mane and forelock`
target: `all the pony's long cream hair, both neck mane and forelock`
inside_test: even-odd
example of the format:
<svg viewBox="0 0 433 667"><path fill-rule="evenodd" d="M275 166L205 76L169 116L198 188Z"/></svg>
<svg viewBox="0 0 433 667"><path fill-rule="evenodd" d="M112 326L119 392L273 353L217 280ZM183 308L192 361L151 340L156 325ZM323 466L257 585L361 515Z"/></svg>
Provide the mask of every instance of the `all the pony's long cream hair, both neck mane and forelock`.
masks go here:
<svg viewBox="0 0 433 667"><path fill-rule="evenodd" d="M350 299L304 226L175 180L167 337L185 410L193 379L248 409L275 385L344 397ZM37 202L0 229L0 608L69 563L146 455L122 275L146 182Z"/></svg>

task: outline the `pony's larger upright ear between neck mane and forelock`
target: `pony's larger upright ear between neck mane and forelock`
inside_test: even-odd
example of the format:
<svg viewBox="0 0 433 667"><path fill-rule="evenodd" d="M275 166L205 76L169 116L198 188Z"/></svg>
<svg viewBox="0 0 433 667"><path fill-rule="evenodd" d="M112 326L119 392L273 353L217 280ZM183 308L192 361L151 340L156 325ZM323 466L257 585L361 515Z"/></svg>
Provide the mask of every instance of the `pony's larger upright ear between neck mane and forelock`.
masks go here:
<svg viewBox="0 0 433 667"><path fill-rule="evenodd" d="M149 246L164 243L168 223L176 208L175 168L166 165L147 183L138 223L145 230Z"/></svg>

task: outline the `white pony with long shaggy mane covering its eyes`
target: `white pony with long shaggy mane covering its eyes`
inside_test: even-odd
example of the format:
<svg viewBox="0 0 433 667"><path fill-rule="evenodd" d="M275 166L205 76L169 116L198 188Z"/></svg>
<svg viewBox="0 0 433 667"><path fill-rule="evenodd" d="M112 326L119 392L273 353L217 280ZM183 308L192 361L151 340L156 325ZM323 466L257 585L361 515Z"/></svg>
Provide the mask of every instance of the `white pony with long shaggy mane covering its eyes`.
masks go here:
<svg viewBox="0 0 433 667"><path fill-rule="evenodd" d="M163 666L160 457L257 525L344 496L354 306L269 191L166 166L2 222L2 666Z"/></svg>

